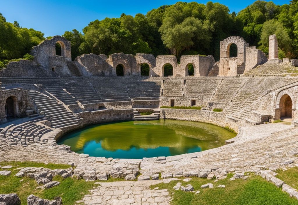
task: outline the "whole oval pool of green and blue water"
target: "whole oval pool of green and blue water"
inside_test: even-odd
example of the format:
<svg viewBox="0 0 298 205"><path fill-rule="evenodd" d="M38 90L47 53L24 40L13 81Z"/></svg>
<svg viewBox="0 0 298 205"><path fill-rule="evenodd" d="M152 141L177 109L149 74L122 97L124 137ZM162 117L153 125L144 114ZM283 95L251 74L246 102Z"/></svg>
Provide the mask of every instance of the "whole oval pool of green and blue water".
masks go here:
<svg viewBox="0 0 298 205"><path fill-rule="evenodd" d="M142 159L212 149L235 135L201 122L125 121L88 126L66 134L58 144L95 157Z"/></svg>

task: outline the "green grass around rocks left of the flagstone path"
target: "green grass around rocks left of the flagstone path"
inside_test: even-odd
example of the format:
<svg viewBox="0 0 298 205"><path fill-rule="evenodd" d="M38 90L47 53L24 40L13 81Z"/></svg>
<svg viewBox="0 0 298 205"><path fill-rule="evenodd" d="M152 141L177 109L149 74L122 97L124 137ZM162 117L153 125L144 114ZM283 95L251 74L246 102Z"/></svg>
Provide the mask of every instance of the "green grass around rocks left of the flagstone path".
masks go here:
<svg viewBox="0 0 298 205"><path fill-rule="evenodd" d="M53 200L55 197L60 196L64 205L73 205L75 201L81 200L85 194L94 186L94 182L86 182L83 179L77 180L74 178L63 179L59 176L54 177L53 180L60 181L56 187L47 190L35 190L40 186L36 181L29 177L16 177L14 176L19 170L17 167L45 167L50 169L65 169L70 167L65 164L43 164L38 162L15 162L5 161L0 162L1 166L12 165L10 176L0 176L0 193L17 193L21 199L21 204L27 204L27 197L30 194L37 195L44 199ZM20 181L23 179L23 181Z"/></svg>

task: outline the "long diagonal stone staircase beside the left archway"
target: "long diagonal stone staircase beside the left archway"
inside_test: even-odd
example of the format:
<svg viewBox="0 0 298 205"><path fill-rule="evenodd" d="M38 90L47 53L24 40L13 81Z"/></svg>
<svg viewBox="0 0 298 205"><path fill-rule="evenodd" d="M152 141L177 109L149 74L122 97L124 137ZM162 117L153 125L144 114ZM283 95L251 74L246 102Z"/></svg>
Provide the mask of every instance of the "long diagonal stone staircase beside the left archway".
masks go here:
<svg viewBox="0 0 298 205"><path fill-rule="evenodd" d="M30 91L29 95L38 111L48 119L53 128L79 125L80 118L73 112L68 111L62 103L38 91Z"/></svg>

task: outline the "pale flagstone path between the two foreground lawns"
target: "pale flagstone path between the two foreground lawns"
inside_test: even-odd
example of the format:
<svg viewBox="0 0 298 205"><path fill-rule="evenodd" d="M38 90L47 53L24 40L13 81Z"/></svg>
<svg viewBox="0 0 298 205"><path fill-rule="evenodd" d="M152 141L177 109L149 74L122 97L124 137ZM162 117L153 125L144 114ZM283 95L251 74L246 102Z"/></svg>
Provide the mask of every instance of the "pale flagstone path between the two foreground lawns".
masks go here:
<svg viewBox="0 0 298 205"><path fill-rule="evenodd" d="M102 205L168 205L170 196L166 189L150 190L150 185L162 180L96 182L99 187L85 195L83 204Z"/></svg>

